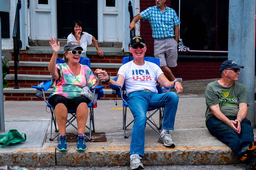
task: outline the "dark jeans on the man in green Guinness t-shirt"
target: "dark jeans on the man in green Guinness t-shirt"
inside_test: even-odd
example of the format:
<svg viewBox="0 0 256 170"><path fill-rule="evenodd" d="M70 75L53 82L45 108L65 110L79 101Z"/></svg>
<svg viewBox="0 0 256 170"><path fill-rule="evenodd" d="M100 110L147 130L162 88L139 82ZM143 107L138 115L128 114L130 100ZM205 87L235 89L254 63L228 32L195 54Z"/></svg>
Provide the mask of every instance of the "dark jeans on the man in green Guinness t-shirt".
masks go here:
<svg viewBox="0 0 256 170"><path fill-rule="evenodd" d="M236 117L228 117L228 119L236 120ZM254 141L251 122L246 118L241 122L240 135L215 116L211 116L207 120L206 127L213 136L216 136L221 142L227 144L235 152L236 156L238 156L239 151L244 146Z"/></svg>

